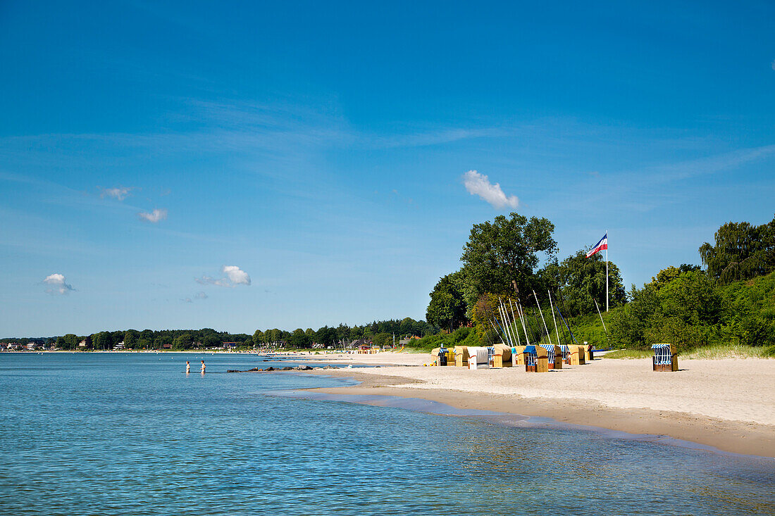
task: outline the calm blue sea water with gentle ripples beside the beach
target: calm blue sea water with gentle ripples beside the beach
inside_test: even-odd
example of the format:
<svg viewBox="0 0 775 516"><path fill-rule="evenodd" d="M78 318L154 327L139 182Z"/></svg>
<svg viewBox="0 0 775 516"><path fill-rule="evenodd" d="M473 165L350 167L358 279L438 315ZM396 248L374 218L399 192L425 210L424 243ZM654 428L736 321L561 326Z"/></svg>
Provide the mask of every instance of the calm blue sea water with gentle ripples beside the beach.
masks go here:
<svg viewBox="0 0 775 516"><path fill-rule="evenodd" d="M205 377L186 376L200 358ZM341 380L225 373L268 365L0 354L0 514L775 514L771 459L277 397Z"/></svg>

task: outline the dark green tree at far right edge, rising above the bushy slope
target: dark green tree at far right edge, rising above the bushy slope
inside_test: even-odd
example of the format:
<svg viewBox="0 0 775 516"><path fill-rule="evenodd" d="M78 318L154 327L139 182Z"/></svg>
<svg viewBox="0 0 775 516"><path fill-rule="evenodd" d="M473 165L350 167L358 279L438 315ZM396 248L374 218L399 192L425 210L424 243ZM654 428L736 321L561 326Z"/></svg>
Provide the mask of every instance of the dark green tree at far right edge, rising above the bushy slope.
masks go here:
<svg viewBox="0 0 775 516"><path fill-rule="evenodd" d="M775 217L762 225L727 222L715 232L715 244L700 246L708 276L721 284L749 280L775 270Z"/></svg>

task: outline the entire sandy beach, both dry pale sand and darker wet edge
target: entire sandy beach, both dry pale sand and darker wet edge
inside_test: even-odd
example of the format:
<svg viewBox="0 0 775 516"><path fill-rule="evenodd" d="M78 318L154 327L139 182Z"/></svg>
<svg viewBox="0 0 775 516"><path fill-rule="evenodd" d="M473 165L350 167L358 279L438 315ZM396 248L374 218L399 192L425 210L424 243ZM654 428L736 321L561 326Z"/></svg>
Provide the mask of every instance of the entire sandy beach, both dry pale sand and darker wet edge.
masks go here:
<svg viewBox="0 0 775 516"><path fill-rule="evenodd" d="M649 359L596 359L549 373L525 373L519 367L425 367L430 356L412 353L315 358L380 366L317 372L361 382L320 389L331 394L418 397L456 408L669 435L726 452L775 457L772 359L681 360L676 373L653 372Z"/></svg>

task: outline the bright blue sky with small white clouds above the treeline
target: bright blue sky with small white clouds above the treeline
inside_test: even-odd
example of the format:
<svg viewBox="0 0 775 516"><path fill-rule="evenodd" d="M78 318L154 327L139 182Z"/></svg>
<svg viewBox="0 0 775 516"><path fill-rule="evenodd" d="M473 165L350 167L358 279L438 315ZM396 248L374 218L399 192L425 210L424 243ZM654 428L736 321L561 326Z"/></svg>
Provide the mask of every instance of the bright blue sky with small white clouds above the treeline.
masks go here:
<svg viewBox="0 0 775 516"><path fill-rule="evenodd" d="M0 336L423 318L513 206L699 263L775 212L775 6L623 3L3 2Z"/></svg>

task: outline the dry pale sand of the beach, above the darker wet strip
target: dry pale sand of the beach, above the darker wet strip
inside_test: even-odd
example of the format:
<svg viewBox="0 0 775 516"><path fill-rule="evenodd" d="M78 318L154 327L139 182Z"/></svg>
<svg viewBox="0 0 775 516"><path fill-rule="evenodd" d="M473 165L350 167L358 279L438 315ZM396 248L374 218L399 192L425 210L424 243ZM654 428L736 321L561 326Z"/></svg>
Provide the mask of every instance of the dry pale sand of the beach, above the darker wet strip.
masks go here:
<svg viewBox="0 0 775 516"><path fill-rule="evenodd" d="M710 418L775 425L775 360L680 360L680 371L655 373L649 359L597 359L584 366L563 366L549 373L525 373L524 367L467 370L463 367L405 367L428 355L379 353L332 361L381 365L359 373L405 377L392 387L462 390L525 398L593 400L611 408L677 411Z"/></svg>

